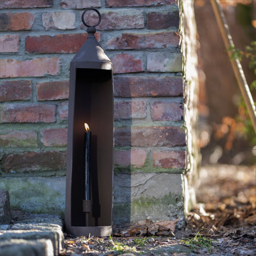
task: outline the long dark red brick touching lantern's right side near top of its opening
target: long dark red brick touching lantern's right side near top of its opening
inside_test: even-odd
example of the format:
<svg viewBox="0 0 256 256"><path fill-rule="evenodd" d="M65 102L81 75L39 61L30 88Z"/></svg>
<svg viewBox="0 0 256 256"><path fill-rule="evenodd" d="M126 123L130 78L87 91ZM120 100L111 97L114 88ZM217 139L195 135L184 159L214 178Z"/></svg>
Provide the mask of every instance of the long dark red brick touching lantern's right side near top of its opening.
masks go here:
<svg viewBox="0 0 256 256"><path fill-rule="evenodd" d="M116 97L163 97L183 94L183 79L178 76L115 76L114 85Z"/></svg>

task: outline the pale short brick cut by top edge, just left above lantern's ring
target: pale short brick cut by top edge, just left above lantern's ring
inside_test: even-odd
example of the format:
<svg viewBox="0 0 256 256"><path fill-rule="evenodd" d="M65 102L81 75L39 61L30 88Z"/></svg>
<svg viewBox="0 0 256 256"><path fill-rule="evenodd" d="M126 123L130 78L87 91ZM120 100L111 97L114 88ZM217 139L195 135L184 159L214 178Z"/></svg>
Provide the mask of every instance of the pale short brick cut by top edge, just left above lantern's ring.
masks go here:
<svg viewBox="0 0 256 256"><path fill-rule="evenodd" d="M101 7L100 0L62 0L60 5L63 9Z"/></svg>

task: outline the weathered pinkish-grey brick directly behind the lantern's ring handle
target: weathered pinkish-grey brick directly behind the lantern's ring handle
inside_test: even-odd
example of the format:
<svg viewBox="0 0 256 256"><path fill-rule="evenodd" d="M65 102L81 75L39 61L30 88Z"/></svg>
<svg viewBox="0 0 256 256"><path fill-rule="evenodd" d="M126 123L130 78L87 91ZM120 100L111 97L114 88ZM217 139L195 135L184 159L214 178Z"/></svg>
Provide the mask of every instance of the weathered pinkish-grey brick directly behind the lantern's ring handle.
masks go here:
<svg viewBox="0 0 256 256"><path fill-rule="evenodd" d="M101 13L102 20L97 26L98 30L114 30L114 29L132 29L144 28L144 17L141 10L118 10ZM98 14L94 11L86 12L84 20L88 25L95 25L98 23ZM81 27L85 27L81 22Z"/></svg>

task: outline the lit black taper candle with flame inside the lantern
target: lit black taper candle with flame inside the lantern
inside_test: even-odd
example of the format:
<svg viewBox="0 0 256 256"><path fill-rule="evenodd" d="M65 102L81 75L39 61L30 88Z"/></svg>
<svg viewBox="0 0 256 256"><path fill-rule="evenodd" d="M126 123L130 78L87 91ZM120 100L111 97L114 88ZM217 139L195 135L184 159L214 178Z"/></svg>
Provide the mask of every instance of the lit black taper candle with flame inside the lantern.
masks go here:
<svg viewBox="0 0 256 256"><path fill-rule="evenodd" d="M84 124L85 126L87 124ZM91 200L90 147L91 134L89 126L84 133L84 200Z"/></svg>

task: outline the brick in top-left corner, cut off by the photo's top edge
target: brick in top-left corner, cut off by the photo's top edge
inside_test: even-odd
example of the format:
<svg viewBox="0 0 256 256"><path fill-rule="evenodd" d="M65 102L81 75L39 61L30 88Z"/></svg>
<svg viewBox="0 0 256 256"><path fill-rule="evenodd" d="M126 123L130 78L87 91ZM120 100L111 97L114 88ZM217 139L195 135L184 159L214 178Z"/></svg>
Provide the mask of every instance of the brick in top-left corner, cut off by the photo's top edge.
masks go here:
<svg viewBox="0 0 256 256"><path fill-rule="evenodd" d="M53 5L53 0L22 0L22 1L5 0L0 2L0 9L51 7L52 5Z"/></svg>

